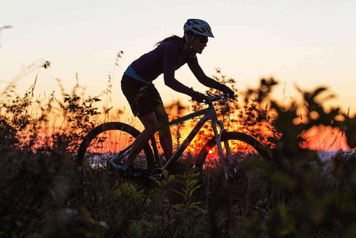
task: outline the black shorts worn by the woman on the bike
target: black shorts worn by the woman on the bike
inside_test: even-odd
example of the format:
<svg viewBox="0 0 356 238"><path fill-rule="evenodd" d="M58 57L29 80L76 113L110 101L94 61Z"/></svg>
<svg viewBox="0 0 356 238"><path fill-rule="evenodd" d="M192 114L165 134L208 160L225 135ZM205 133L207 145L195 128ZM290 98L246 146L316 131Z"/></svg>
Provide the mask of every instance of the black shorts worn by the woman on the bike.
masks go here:
<svg viewBox="0 0 356 238"><path fill-rule="evenodd" d="M153 83L147 84L125 74L122 76L121 90L135 117L154 112L154 106L162 103L162 98Z"/></svg>

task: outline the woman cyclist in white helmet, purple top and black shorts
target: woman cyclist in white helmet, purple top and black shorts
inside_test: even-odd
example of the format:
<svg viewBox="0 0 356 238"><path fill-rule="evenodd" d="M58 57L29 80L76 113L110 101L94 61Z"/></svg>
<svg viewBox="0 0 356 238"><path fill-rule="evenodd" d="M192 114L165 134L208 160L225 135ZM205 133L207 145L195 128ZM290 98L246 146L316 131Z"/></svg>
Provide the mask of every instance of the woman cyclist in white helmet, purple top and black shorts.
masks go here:
<svg viewBox="0 0 356 238"><path fill-rule="evenodd" d="M135 117L138 117L145 129L133 142L125 164L121 166L123 177L139 178L143 175L132 165L142 148L150 141L158 129L166 161L172 157L172 134L167 126L169 122L162 99L152 81L163 73L164 83L174 91L187 94L197 102L203 102L206 96L194 91L174 78L174 71L185 63L200 83L209 88L230 93L234 91L214 79L206 76L198 64L196 54L201 54L208 43L208 37L214 37L208 23L199 19L188 19L184 24L184 36L171 36L157 43L157 48L142 55L127 68L122 76L121 89Z"/></svg>

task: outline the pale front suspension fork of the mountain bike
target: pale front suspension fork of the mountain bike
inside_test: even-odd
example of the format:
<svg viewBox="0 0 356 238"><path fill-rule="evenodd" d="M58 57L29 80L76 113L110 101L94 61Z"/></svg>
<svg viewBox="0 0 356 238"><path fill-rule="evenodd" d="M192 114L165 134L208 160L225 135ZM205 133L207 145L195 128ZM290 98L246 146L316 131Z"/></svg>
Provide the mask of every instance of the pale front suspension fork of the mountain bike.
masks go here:
<svg viewBox="0 0 356 238"><path fill-rule="evenodd" d="M216 124L218 124L220 127L220 134L218 133ZM213 131L214 131L214 135L215 135L215 143L216 143L216 146L218 147L220 163L221 163L221 166L223 167L225 179L229 179L229 171L232 169L233 170L232 172L236 173L236 168L235 168L234 160L232 159L232 153L230 150L229 141L224 141L226 157L224 154L223 146L221 145L221 135L223 134L223 132L227 132L227 130L224 128L223 121L220 121L220 120L217 120L216 122L212 122L211 126L213 127ZM227 158L227 161L226 161L226 158Z"/></svg>

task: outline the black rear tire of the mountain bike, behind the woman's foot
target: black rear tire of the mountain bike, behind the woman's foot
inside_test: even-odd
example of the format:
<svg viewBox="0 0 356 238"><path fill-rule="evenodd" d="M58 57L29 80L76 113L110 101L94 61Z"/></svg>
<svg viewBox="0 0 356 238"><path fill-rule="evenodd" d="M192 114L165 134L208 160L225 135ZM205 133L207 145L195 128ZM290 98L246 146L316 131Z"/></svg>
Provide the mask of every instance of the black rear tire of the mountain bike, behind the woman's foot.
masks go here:
<svg viewBox="0 0 356 238"><path fill-rule="evenodd" d="M108 132L108 131L114 131L116 134L119 133L119 135L121 135L121 136L125 135L125 137L126 136L130 137L130 138L132 137L133 139L135 139L141 133L140 131L133 128L132 126L125 124L125 123L121 123L121 122L104 123L104 124L96 126L94 129L89 131L89 133L84 137L83 141L80 143L78 153L77 153L77 168L80 171L80 179L84 180L84 182L87 182L90 184L90 180L93 179L93 178L89 178L89 173L88 173L89 171L91 171L91 169L93 167L93 163L88 162L85 157L85 155L88 153L88 147L95 140L95 138L98 138L98 140L100 141L100 137L98 137L98 136L100 134L102 134L104 132ZM104 138L106 139L106 137L104 137ZM110 138L110 140L112 140L112 138ZM105 141L103 141L103 139L101 139L101 142L105 142ZM97 149L97 147L96 147L96 149ZM115 151L115 152L112 151L112 152L108 152L108 153L114 154L119 151ZM146 158L146 165L147 165L146 171L150 171L150 169L153 166L153 152L152 152L151 146L148 143L143 148L143 152L144 152L144 156ZM95 153L98 153L98 152L95 152ZM99 154L100 154L100 152L99 152ZM104 158L105 156L107 156L107 155L103 155L102 157ZM101 158L101 159L103 159L103 158ZM98 168L104 167L105 168L105 166L106 166L105 162L107 160L108 160L107 158L105 158L105 161L101 160L100 162L103 162L103 163L96 167L98 167Z"/></svg>

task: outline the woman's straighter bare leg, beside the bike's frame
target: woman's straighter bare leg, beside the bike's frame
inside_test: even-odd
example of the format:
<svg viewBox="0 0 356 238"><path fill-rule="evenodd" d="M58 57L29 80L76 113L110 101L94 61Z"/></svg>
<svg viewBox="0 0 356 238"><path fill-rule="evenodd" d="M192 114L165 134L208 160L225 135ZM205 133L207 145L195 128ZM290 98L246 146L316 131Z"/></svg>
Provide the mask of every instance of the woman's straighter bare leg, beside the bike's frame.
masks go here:
<svg viewBox="0 0 356 238"><path fill-rule="evenodd" d="M167 126L169 119L166 110L162 103L154 107L157 122L158 122L158 136L159 143L162 146L166 162L173 156L173 142L171 129Z"/></svg>

